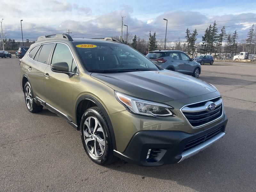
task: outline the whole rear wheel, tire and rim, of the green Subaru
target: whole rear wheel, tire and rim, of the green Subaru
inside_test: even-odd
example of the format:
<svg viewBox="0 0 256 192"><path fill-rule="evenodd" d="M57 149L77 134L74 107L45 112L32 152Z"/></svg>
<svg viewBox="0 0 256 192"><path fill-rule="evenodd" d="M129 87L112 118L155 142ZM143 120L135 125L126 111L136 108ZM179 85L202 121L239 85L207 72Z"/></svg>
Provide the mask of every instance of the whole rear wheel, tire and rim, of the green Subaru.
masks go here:
<svg viewBox="0 0 256 192"><path fill-rule="evenodd" d="M24 85L24 96L25 96L26 106L29 112L36 113L36 112L42 111L43 106L37 105L36 102L34 101L34 95L29 82L27 82Z"/></svg>

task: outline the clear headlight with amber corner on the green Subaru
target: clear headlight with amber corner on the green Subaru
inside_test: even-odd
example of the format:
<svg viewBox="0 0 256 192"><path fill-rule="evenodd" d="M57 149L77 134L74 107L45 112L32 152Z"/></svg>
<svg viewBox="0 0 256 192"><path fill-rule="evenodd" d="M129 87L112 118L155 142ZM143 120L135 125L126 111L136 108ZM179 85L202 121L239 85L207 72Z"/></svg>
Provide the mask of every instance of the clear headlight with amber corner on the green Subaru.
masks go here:
<svg viewBox="0 0 256 192"><path fill-rule="evenodd" d="M170 111L173 107L169 105L141 100L116 91L115 95L116 99L131 113L153 117L173 115Z"/></svg>

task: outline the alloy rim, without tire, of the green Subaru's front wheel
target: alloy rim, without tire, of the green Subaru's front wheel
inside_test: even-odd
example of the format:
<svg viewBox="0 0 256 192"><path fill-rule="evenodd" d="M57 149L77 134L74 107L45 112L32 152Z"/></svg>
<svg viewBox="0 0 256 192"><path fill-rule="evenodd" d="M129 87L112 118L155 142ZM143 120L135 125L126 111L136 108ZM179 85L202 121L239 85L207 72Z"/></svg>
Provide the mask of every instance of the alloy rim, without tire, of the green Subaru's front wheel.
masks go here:
<svg viewBox="0 0 256 192"><path fill-rule="evenodd" d="M85 145L92 157L99 158L105 152L106 138L100 122L95 117L88 117L83 127Z"/></svg>

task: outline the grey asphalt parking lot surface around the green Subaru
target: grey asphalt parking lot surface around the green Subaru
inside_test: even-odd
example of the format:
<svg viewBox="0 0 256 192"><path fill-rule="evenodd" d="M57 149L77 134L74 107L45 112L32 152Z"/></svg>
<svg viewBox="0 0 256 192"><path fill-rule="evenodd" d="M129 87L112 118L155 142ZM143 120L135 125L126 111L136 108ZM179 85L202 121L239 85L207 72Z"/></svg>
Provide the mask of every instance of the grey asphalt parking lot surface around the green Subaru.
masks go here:
<svg viewBox="0 0 256 192"><path fill-rule="evenodd" d="M206 64L199 79L223 97L225 137L179 164L100 166L66 120L28 112L19 59L0 58L0 191L256 191L256 64Z"/></svg>

